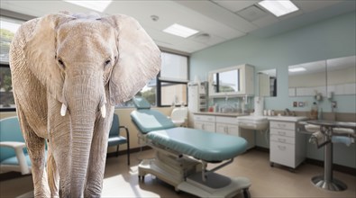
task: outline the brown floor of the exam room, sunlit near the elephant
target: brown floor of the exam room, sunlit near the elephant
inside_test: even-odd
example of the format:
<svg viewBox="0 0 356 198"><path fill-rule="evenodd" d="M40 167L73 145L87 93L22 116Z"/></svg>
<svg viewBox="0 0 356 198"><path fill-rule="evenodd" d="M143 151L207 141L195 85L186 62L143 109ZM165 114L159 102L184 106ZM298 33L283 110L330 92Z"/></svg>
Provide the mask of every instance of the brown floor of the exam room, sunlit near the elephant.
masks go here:
<svg viewBox="0 0 356 198"><path fill-rule="evenodd" d="M164 184L153 175L146 175L144 183L139 182L138 158L147 157L153 157L152 150L132 154L132 166L127 166L126 156L108 158L102 197L195 197L184 192L176 193L172 186ZM236 157L233 164L217 172L231 177L250 178L251 197L356 197L356 176L336 171L333 176L348 185L346 191L330 192L316 188L310 179L315 175L322 175L323 171L323 167L309 164L297 167L295 173L282 166L271 167L268 153L250 150ZM0 182L0 197L28 197L31 196L31 191L31 175Z"/></svg>

